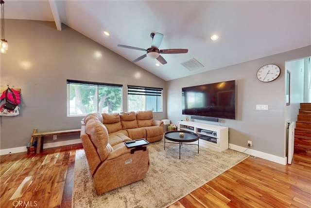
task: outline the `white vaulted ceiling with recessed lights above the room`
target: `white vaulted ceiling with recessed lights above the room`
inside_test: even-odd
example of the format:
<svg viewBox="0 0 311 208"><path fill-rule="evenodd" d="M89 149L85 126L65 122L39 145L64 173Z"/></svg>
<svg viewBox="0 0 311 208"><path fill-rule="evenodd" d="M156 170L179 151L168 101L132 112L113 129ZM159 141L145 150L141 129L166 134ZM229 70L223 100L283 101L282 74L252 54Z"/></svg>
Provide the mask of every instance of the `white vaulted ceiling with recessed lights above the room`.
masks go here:
<svg viewBox="0 0 311 208"><path fill-rule="evenodd" d="M167 64L159 66L150 57L136 62L164 80L311 45L310 0L5 0L4 6L5 19L54 21L55 30L66 24L129 61L146 51L118 44L147 49L152 32L164 34L159 49L181 48L188 53L161 54ZM211 40L213 34L219 39ZM203 67L193 69L193 58Z"/></svg>

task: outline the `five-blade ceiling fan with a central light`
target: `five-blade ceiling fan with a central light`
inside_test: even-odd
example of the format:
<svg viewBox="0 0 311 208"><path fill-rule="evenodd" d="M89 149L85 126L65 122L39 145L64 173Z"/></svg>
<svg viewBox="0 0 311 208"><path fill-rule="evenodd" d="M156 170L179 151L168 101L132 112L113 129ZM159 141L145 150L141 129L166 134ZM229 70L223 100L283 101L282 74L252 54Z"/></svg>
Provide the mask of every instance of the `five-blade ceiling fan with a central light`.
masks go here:
<svg viewBox="0 0 311 208"><path fill-rule="evenodd" d="M151 57L153 59L156 58L161 64L166 64L166 60L160 55L160 54L185 54L188 53L188 49L163 49L160 50L159 46L162 42L163 39L163 34L161 33L151 33L150 37L152 38L152 43L151 43L151 48L143 49L143 48L137 48L133 46L127 46L127 45L118 45L119 47L123 48L130 48L130 49L135 49L135 50L140 50L140 51L146 51L147 53L136 58L132 62L135 63L144 57Z"/></svg>

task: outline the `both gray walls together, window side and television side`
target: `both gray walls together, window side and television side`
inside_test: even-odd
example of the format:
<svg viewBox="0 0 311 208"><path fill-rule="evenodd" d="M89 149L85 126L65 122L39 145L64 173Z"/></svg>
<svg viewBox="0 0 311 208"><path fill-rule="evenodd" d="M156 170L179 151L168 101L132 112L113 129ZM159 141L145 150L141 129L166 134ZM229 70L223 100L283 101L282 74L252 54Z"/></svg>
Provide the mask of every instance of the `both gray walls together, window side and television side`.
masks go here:
<svg viewBox="0 0 311 208"><path fill-rule="evenodd" d="M247 140L252 140L253 150L284 157L285 114L296 113L285 105L285 62L311 56L308 46L165 82L66 25L57 31L53 22L6 19L5 35L9 50L0 55L1 87L21 88L22 104L20 115L0 117L1 150L26 146L34 128L80 128L81 116L67 117L67 79L163 87L163 113L154 116L174 123L185 118L181 114L182 87L235 79L237 118L221 122L229 127L229 142L246 147ZM101 52L102 57L96 58L95 52ZM281 75L271 83L262 83L256 72L268 63L278 65ZM127 111L126 88L123 97L123 111ZM256 104L267 104L269 110L257 111ZM57 141L65 138L60 136Z"/></svg>

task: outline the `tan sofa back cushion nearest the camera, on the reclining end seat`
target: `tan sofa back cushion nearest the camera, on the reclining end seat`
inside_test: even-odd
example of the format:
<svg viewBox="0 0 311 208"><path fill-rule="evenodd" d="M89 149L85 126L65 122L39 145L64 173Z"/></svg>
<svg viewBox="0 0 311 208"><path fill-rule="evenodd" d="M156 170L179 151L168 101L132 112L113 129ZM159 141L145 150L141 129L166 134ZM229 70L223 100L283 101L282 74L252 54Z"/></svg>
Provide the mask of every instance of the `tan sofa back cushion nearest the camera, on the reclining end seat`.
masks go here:
<svg viewBox="0 0 311 208"><path fill-rule="evenodd" d="M86 123L86 133L94 144L101 161L104 161L113 151L108 143L109 137L106 127L97 118L91 118Z"/></svg>

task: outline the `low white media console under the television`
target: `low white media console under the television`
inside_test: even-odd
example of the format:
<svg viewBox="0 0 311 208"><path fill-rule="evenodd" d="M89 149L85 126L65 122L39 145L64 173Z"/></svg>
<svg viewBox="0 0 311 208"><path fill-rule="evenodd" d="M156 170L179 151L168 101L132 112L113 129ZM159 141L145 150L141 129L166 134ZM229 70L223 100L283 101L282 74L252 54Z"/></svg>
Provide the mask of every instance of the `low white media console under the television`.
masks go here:
<svg viewBox="0 0 311 208"><path fill-rule="evenodd" d="M193 121L178 121L177 128L179 131L195 132L200 139L207 141L208 148L214 151L224 151L229 146L228 127L215 126Z"/></svg>

